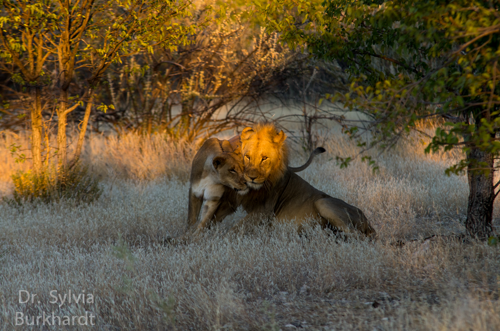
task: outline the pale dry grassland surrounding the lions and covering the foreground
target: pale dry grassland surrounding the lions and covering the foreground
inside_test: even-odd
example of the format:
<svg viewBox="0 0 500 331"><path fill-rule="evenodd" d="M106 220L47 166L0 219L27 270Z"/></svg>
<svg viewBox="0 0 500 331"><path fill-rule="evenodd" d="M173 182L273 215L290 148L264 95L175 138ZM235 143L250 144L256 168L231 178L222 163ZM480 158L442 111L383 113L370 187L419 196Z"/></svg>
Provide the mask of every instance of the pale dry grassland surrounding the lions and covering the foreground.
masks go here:
<svg viewBox="0 0 500 331"><path fill-rule="evenodd" d="M9 175L28 168L11 158L13 142L26 144L10 134L0 142L2 195ZM459 155L424 155L408 140L380 155L374 174L360 161L335 165L335 154L356 149L341 135L323 142L328 153L300 175L361 208L376 241L346 242L317 227L298 236L286 224L222 235L238 211L196 242L163 245L184 229L194 148L160 136L91 136L83 160L102 179L98 201L0 204L0 329L30 329L14 325L16 312L85 310L96 330L500 329L500 246L452 235L464 232L468 187L444 168ZM297 152L291 165L305 158ZM34 303L18 302L21 289L37 294ZM51 290L91 293L93 303L59 307Z"/></svg>

